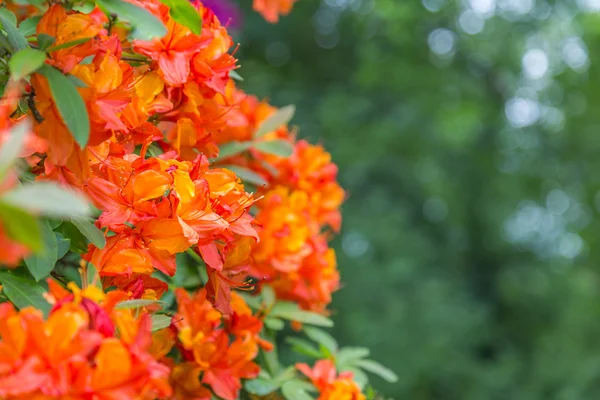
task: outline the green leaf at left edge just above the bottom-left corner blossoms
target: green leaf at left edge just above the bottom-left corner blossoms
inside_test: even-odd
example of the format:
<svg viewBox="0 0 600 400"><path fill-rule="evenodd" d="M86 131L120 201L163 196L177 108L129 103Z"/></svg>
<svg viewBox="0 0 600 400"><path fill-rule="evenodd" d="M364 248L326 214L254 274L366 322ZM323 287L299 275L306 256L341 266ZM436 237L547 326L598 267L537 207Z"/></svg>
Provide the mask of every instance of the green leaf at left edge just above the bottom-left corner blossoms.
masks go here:
<svg viewBox="0 0 600 400"><path fill-rule="evenodd" d="M44 315L50 311L50 304L44 298L45 290L33 278L19 276L12 271L0 271L0 282L6 297L17 308L33 306L42 310Z"/></svg>

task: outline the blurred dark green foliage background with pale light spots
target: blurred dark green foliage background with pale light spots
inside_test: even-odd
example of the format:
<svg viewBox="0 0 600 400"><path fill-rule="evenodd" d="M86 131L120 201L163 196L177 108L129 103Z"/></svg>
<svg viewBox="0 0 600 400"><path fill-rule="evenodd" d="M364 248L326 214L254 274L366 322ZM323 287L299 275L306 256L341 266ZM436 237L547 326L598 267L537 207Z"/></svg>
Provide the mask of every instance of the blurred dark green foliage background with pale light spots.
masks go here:
<svg viewBox="0 0 600 400"><path fill-rule="evenodd" d="M244 1L248 7L249 1ZM348 192L335 335L395 399L600 396L600 0L247 8L242 88Z"/></svg>

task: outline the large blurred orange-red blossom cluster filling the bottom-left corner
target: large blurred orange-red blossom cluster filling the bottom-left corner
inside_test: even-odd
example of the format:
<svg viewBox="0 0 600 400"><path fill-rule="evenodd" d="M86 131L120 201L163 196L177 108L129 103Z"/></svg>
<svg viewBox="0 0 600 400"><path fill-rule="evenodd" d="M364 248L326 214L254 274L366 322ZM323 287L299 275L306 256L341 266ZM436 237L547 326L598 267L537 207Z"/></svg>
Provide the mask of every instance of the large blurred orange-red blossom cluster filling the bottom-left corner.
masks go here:
<svg viewBox="0 0 600 400"><path fill-rule="evenodd" d="M2 303L0 337L3 399L133 400L171 393L168 368L147 351L147 314L138 320L124 312L109 318L104 308L81 295L63 298L47 320L39 310L17 312Z"/></svg>

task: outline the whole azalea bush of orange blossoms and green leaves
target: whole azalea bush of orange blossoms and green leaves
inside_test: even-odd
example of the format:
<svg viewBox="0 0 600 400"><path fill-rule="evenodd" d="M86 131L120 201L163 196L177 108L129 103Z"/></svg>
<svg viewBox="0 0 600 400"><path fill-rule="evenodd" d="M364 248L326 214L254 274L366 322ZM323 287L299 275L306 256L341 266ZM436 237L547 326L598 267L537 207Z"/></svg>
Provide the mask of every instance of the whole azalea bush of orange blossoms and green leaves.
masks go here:
<svg viewBox="0 0 600 400"><path fill-rule="evenodd" d="M213 11L22 3L0 10L0 397L363 399L343 371L367 354L310 327L340 286L337 167L237 87ZM280 364L284 321L325 338L314 370Z"/></svg>

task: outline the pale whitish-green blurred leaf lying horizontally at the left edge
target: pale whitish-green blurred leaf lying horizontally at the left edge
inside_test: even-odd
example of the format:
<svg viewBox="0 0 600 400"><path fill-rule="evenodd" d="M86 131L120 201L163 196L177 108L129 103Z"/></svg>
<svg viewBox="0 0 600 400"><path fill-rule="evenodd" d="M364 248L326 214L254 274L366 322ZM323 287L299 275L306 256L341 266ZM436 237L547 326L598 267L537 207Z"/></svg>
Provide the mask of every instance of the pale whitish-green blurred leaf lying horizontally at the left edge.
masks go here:
<svg viewBox="0 0 600 400"><path fill-rule="evenodd" d="M55 218L85 216L90 213L87 200L53 182L35 182L19 186L0 200L34 214Z"/></svg>

